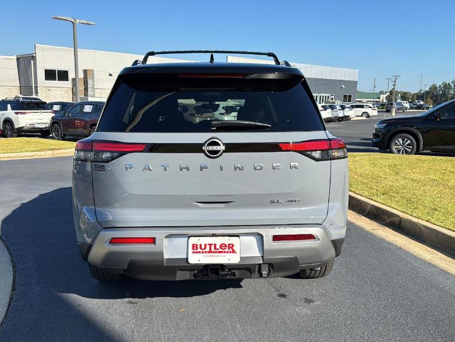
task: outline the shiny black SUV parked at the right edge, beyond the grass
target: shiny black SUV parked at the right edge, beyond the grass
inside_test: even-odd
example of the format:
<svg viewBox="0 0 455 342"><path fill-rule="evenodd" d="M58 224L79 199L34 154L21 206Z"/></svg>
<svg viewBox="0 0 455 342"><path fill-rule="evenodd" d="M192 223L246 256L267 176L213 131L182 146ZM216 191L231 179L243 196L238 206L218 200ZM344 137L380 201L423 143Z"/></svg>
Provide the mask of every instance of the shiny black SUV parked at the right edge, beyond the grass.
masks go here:
<svg viewBox="0 0 455 342"><path fill-rule="evenodd" d="M423 150L455 153L455 100L425 113L382 119L373 130L373 146L396 154Z"/></svg>

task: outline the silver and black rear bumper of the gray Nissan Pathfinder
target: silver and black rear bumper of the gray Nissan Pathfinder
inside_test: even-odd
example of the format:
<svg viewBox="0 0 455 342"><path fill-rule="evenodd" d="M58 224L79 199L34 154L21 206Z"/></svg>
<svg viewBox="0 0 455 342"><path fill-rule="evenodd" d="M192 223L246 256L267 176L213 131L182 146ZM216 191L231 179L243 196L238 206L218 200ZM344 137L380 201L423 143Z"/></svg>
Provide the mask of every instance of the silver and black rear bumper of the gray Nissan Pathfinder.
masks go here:
<svg viewBox="0 0 455 342"><path fill-rule="evenodd" d="M238 264L221 265L232 278L262 277L261 265L268 264L267 277L287 276L301 269L316 268L338 256L344 238L331 240L325 227L318 225L287 227L198 228L109 228L103 229L92 245L79 244L83 259L111 272L138 279L195 279L216 265L189 264L187 241L190 236L239 236L241 258ZM313 234L315 240L273 242L273 235ZM154 245L114 245L119 237L153 237ZM224 271L223 271L224 272ZM215 272L216 273L216 272ZM216 277L216 276L213 276Z"/></svg>

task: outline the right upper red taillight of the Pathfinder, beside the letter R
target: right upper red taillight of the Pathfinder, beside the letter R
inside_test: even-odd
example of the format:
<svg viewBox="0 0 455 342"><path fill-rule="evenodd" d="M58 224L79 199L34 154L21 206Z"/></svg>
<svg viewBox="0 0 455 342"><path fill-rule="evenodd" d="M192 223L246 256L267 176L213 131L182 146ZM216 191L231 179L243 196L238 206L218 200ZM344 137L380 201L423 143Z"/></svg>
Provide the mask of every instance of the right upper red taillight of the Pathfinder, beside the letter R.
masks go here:
<svg viewBox="0 0 455 342"><path fill-rule="evenodd" d="M298 152L316 161L342 159L348 155L346 144L340 138L280 143L278 145L283 151Z"/></svg>

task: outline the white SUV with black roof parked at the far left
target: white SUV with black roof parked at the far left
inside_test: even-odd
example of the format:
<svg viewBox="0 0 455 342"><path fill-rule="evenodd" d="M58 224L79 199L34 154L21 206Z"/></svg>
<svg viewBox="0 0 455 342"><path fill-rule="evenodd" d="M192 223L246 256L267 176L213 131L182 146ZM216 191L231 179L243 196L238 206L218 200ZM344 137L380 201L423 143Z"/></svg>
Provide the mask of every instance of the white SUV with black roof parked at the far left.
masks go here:
<svg viewBox="0 0 455 342"><path fill-rule="evenodd" d="M36 96L17 95L0 101L0 128L5 137L18 133L51 134L49 123L54 112L47 103Z"/></svg>

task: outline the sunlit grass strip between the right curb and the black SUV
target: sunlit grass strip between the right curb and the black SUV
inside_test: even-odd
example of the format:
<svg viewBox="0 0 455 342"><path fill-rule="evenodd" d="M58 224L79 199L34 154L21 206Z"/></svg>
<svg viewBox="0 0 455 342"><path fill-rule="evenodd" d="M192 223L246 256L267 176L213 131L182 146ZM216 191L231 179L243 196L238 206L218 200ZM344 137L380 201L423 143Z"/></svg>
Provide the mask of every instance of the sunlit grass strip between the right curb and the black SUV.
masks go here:
<svg viewBox="0 0 455 342"><path fill-rule="evenodd" d="M349 189L455 231L455 158L351 153Z"/></svg>

